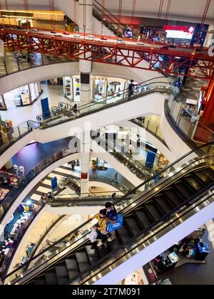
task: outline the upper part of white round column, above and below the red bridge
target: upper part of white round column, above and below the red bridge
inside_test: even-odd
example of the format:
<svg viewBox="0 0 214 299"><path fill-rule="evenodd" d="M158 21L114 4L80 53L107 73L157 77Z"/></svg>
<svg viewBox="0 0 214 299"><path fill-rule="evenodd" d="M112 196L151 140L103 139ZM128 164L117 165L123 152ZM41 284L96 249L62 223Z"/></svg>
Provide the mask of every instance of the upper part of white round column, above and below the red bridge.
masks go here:
<svg viewBox="0 0 214 299"><path fill-rule="evenodd" d="M84 2L86 5L84 5ZM86 36L92 34L92 11L93 11L93 0L79 0L79 32L86 33ZM90 57L91 53L87 53L86 57ZM84 56L80 56L84 57ZM92 70L92 62L91 61L83 61L80 59L79 61L79 71L81 78L81 88L80 88L80 98L81 104L84 105L88 102L91 102L91 70Z"/></svg>

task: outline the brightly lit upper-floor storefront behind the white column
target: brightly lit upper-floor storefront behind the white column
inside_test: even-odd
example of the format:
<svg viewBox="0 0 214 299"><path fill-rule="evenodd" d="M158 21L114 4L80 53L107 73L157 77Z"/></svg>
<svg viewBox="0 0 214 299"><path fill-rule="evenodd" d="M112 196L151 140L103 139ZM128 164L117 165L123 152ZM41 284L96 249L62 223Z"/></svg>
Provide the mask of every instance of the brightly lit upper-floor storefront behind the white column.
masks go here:
<svg viewBox="0 0 214 299"><path fill-rule="evenodd" d="M80 102L80 76L63 78L64 96L66 99L79 103ZM121 100L124 90L128 88L128 81L118 78L91 77L91 99L102 101L107 98L107 103L111 103L114 99Z"/></svg>

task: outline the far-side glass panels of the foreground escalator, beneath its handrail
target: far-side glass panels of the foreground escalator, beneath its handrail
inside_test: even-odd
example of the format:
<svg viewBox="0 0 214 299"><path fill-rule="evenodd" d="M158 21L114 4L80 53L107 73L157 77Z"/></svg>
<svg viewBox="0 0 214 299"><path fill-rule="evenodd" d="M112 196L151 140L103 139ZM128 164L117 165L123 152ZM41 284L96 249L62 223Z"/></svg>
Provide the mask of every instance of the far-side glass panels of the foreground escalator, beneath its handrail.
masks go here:
<svg viewBox="0 0 214 299"><path fill-rule="evenodd" d="M185 154L182 158L178 159L178 161L174 162L173 164L170 164L168 167L163 169L163 171L159 172L155 176L151 177L151 179L148 179L146 182L143 182L140 186L136 187L135 189L131 190L131 192L128 192L126 196L123 196L121 199L118 199L116 204L118 204L120 201L126 199L127 196L130 196L131 194L136 194L140 189L142 190L143 187L151 187L150 189L146 189L143 194L141 194L141 197L143 199L143 196L146 195L148 192L152 192L153 189L155 190L159 185L163 184L165 180L163 179L165 176L168 175L167 179L170 177L173 177L174 174L180 172L185 172L186 167L190 167L191 164L195 164L195 162L205 162L205 165L208 165L210 167L214 167L214 142L210 143L208 145L204 145L202 147L197 148L196 150L193 150L192 152ZM139 199L138 196L135 196L133 199L131 199L130 203L133 205L135 201ZM85 240L88 236L88 234L91 231L91 228L93 225L95 225L97 222L96 216L93 216L92 219L88 220L85 224L82 224L77 229L71 231L70 234L67 234L61 240L58 240L56 243L54 243L49 248L46 248L46 250L39 253L39 255L32 258L30 261L24 264L21 268L18 268L13 273L10 273L8 277L16 278L17 275L23 273L23 269L26 268L26 266L29 268L28 271L24 273L24 275L31 273L31 271L34 271L36 268L35 266L43 265L44 263L51 260L51 258L54 258L56 256L56 252L53 252L54 249L57 250L57 254L63 251L65 248L69 248L70 252L74 250L75 248L78 248L78 246L81 246L81 242L83 239ZM153 228L154 229L154 228ZM64 244L63 247L59 247L58 244Z"/></svg>

